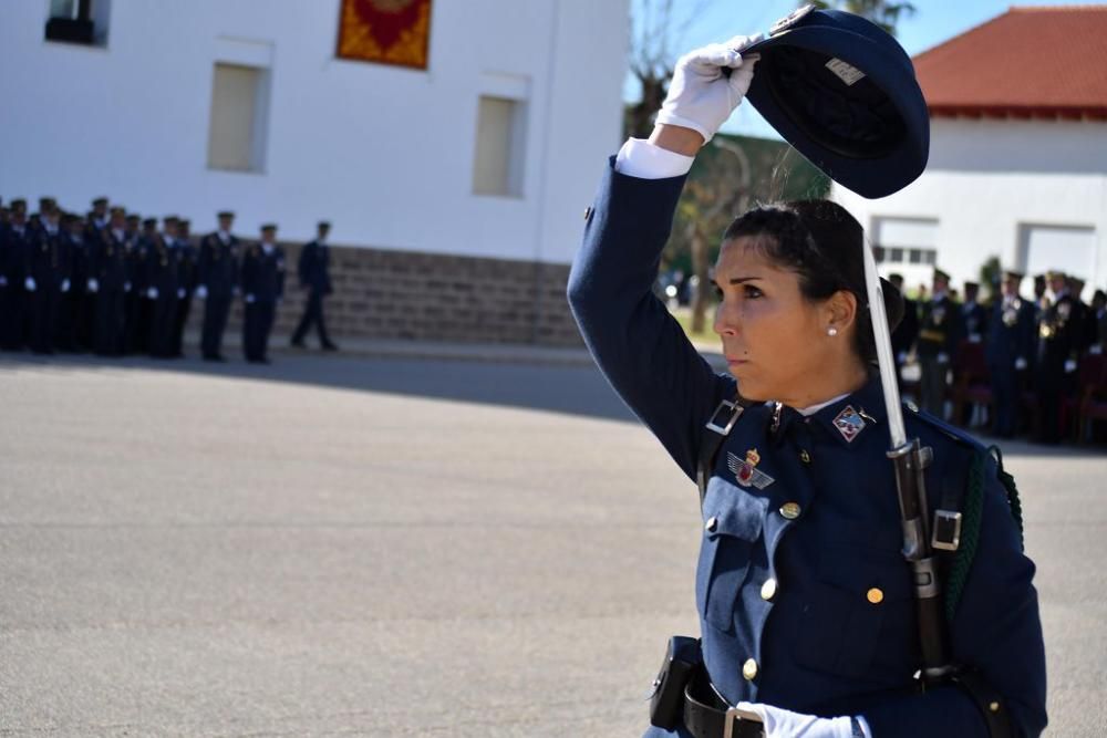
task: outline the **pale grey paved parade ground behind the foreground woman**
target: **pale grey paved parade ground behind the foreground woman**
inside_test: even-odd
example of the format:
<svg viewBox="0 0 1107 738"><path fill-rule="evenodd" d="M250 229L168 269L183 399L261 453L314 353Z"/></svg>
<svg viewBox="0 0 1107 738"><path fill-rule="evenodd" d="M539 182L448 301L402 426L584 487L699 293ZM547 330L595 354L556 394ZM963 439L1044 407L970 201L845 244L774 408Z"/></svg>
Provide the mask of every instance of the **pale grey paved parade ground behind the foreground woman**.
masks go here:
<svg viewBox="0 0 1107 738"><path fill-rule="evenodd" d="M589 366L0 357L0 735L637 736L694 487ZM1107 455L1012 443L1052 736L1107 735Z"/></svg>

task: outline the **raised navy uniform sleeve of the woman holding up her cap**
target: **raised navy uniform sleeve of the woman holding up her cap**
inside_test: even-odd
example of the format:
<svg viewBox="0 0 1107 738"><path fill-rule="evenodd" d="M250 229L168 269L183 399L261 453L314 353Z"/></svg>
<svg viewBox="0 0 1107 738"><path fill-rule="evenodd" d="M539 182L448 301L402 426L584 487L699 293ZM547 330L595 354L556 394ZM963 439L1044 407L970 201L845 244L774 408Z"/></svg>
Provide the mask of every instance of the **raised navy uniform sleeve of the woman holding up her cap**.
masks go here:
<svg viewBox="0 0 1107 738"><path fill-rule="evenodd" d="M653 294L684 177L620 174L614 157L569 276L569 304L596 363L689 477L700 436L734 382L714 373Z"/></svg>

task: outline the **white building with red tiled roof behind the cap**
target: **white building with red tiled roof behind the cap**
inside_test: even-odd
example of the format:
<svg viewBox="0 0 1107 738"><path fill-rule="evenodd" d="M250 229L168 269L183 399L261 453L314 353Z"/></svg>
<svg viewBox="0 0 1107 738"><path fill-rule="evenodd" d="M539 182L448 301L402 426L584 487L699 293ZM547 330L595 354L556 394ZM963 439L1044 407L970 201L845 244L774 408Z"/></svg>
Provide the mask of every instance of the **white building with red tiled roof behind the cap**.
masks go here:
<svg viewBox="0 0 1107 738"><path fill-rule="evenodd" d="M1013 8L914 59L930 163L906 189L834 198L883 247L883 273L960 289L989 257L1107 285L1107 7ZM1031 278L1024 282L1030 294Z"/></svg>

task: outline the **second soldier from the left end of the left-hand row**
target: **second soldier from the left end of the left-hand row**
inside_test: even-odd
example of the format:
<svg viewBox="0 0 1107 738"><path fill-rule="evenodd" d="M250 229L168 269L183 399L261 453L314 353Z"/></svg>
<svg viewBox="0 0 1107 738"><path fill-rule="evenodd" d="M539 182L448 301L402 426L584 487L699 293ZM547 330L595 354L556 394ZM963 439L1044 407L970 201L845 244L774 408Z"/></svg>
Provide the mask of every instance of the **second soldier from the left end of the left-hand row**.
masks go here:
<svg viewBox="0 0 1107 738"><path fill-rule="evenodd" d="M46 202L28 243L27 282L32 292L28 342L37 354L54 353L60 303L71 287L69 248L59 218L56 207Z"/></svg>

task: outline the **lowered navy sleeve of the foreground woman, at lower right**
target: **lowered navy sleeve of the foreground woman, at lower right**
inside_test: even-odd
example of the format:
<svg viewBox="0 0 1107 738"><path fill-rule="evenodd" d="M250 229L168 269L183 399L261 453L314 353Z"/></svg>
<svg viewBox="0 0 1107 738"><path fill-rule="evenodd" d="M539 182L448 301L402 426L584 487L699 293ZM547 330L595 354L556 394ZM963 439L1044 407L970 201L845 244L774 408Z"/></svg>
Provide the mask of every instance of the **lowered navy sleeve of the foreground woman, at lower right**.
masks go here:
<svg viewBox="0 0 1107 738"><path fill-rule="evenodd" d="M984 492L976 555L950 637L958 663L977 671L1002 697L1014 735L1036 738L1047 719L1034 563L1022 551L1006 491L994 469L987 475L992 482ZM989 735L976 706L958 687L882 705L865 717L873 738Z"/></svg>

